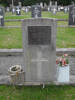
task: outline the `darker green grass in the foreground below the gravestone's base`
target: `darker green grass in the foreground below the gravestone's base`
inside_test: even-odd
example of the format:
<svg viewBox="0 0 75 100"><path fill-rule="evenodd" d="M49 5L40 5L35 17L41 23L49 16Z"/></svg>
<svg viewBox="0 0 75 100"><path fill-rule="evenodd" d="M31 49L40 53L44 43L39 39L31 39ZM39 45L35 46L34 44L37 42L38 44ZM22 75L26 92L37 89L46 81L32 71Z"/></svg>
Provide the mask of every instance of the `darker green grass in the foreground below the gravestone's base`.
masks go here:
<svg viewBox="0 0 75 100"><path fill-rule="evenodd" d="M0 100L75 100L75 87L0 86Z"/></svg>

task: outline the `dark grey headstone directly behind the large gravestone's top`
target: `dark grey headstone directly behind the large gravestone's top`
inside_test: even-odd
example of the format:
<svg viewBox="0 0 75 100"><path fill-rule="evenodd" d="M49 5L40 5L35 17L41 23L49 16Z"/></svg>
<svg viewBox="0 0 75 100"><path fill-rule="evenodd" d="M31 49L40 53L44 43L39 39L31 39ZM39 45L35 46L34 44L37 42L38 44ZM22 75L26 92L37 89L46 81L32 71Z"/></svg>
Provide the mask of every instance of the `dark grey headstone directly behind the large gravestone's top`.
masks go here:
<svg viewBox="0 0 75 100"><path fill-rule="evenodd" d="M40 5L33 5L32 6L32 17L33 18L41 17L41 7L40 7Z"/></svg>

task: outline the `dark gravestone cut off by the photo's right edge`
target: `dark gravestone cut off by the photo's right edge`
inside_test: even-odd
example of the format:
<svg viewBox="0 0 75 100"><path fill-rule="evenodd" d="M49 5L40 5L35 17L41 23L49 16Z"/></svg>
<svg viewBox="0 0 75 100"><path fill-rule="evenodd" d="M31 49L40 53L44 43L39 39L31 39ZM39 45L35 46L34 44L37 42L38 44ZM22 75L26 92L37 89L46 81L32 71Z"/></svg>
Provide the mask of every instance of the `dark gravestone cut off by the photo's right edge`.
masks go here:
<svg viewBox="0 0 75 100"><path fill-rule="evenodd" d="M75 25L75 5L69 8L69 25Z"/></svg>

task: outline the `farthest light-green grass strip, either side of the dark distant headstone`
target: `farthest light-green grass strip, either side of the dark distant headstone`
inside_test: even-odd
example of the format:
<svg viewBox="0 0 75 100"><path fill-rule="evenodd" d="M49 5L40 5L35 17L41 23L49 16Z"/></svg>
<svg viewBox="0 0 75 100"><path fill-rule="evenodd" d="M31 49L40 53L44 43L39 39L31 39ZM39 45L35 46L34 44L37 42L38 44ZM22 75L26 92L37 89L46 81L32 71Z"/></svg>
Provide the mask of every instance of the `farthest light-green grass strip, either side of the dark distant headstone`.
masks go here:
<svg viewBox="0 0 75 100"><path fill-rule="evenodd" d="M64 12L58 12L56 15L53 15L51 12L44 11L42 12L42 17L48 18L57 18L57 19L68 19L68 13L64 14ZM22 16L16 16L16 14L12 15L11 12L5 14L5 19L24 19L31 18L31 13L22 12Z"/></svg>

